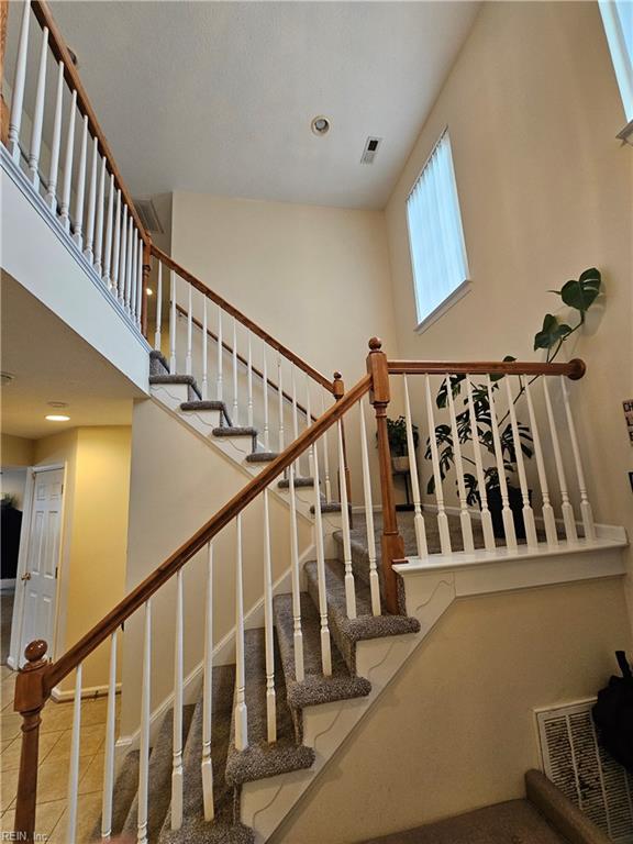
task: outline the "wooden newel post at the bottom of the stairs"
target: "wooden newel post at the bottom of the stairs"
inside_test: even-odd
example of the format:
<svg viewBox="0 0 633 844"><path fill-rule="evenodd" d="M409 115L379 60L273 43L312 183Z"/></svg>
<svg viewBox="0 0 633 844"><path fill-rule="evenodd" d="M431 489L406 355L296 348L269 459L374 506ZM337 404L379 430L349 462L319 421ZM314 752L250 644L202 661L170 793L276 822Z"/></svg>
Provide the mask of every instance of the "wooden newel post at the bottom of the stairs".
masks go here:
<svg viewBox="0 0 633 844"><path fill-rule="evenodd" d="M13 709L22 715L22 749L18 797L15 799L15 841L33 841L35 833L35 803L37 801L37 756L40 752L41 712L48 695L44 690L44 673L48 660L44 658L48 645L36 638L26 645L27 664L15 678Z"/></svg>

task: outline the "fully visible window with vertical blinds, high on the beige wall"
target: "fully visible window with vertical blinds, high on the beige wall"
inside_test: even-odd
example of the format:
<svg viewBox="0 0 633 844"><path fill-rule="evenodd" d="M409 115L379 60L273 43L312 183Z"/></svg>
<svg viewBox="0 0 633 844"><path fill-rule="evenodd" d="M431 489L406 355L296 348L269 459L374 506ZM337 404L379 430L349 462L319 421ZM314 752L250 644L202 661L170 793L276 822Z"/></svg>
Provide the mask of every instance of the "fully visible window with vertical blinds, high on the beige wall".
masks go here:
<svg viewBox="0 0 633 844"><path fill-rule="evenodd" d="M448 130L435 144L407 200L419 327L466 291L468 262Z"/></svg>

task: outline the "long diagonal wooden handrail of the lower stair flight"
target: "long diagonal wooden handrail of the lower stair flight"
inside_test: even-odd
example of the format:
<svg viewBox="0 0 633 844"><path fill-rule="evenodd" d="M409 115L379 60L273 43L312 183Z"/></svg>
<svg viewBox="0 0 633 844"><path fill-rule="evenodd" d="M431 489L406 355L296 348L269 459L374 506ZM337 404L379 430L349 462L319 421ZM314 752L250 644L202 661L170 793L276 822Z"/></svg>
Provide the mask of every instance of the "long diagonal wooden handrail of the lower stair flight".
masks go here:
<svg viewBox="0 0 633 844"><path fill-rule="evenodd" d="M295 463L309 446L316 442L341 417L343 417L369 390L371 376L362 378L340 401L333 404L295 442L276 457L256 478L241 489L223 508L202 525L184 545L175 551L158 568L143 580L129 596L114 607L98 624L82 636L64 656L47 666L43 678L46 695L51 693L79 663L119 628L135 610L142 607L164 584L191 559L253 501L275 478Z"/></svg>

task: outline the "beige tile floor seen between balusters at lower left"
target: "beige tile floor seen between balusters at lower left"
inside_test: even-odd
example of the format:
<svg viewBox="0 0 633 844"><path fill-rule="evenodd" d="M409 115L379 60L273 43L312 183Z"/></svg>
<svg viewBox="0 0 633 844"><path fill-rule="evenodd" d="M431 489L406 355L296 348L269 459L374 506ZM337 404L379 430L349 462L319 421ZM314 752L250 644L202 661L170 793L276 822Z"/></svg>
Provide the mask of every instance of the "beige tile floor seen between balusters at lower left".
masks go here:
<svg viewBox="0 0 633 844"><path fill-rule="evenodd" d="M0 837L13 830L15 789L20 766L21 718L13 712L15 673L0 666ZM79 758L79 802L77 844L92 839L101 814L103 779L103 744L106 740L106 698L90 698L81 703L81 740ZM119 718L118 700L116 718ZM40 728L37 776L37 814L35 830L40 841L66 844L66 795L73 703L49 701Z"/></svg>

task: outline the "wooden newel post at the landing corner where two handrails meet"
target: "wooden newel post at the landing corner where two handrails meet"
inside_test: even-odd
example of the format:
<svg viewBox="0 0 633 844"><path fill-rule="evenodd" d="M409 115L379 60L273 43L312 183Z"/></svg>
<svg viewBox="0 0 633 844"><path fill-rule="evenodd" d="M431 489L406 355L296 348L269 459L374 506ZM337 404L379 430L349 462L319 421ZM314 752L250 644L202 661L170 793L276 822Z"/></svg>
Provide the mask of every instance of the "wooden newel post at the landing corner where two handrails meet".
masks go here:
<svg viewBox="0 0 633 844"><path fill-rule="evenodd" d="M371 376L369 401L376 412L376 430L378 436L378 463L380 464L380 496L382 500L382 579L385 584L385 602L389 612L398 613L398 578L392 569L396 560L404 557L404 541L398 531L396 503L393 499L393 478L391 475L391 451L387 435L387 406L389 404L389 369L387 356L381 351L382 343L378 337L369 341L367 355L367 371Z"/></svg>

